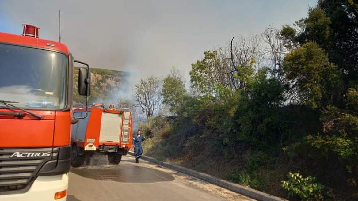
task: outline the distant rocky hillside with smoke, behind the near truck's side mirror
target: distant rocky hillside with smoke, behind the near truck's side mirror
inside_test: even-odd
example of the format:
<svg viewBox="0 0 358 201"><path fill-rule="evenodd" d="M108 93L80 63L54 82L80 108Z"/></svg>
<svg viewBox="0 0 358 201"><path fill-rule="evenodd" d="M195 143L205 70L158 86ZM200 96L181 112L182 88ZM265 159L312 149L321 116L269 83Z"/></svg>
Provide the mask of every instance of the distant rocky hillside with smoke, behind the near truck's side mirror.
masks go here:
<svg viewBox="0 0 358 201"><path fill-rule="evenodd" d="M73 103L85 103L85 97L78 95L78 68L74 68ZM91 68L91 95L89 103L116 103L119 93L126 90L128 72Z"/></svg>

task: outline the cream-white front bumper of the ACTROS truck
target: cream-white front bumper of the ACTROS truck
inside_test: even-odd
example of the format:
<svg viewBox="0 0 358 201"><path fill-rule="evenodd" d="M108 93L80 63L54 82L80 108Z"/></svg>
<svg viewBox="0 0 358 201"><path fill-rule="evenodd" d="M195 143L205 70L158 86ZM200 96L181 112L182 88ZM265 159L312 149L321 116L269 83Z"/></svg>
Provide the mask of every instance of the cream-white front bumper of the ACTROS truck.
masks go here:
<svg viewBox="0 0 358 201"><path fill-rule="evenodd" d="M0 195L0 201L66 201L66 197L55 200L55 193L67 190L68 176L38 176L30 189L25 193Z"/></svg>

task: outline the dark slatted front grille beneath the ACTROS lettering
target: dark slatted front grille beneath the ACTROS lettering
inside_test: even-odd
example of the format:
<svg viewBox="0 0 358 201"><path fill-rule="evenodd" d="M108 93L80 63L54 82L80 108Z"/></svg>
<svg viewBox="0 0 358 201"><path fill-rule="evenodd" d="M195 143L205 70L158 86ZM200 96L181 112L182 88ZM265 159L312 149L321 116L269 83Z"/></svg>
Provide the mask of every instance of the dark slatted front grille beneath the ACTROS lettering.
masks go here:
<svg viewBox="0 0 358 201"><path fill-rule="evenodd" d="M52 153L49 156L35 156L35 153ZM14 153L14 157L11 157ZM26 153L26 154L25 154ZM34 181L45 162L57 158L58 148L0 148L0 193L21 190ZM32 155L32 157L31 157Z"/></svg>

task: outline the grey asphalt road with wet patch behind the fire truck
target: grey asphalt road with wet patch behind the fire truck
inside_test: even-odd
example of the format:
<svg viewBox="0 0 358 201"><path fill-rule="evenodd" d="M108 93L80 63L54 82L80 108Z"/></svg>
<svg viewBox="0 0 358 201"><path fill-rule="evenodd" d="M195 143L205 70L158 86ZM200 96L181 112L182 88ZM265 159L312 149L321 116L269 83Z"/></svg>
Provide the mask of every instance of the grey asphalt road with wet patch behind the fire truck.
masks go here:
<svg viewBox="0 0 358 201"><path fill-rule="evenodd" d="M252 200L150 162L137 164L132 156L124 156L119 165L95 156L90 165L71 169L68 185L68 201Z"/></svg>

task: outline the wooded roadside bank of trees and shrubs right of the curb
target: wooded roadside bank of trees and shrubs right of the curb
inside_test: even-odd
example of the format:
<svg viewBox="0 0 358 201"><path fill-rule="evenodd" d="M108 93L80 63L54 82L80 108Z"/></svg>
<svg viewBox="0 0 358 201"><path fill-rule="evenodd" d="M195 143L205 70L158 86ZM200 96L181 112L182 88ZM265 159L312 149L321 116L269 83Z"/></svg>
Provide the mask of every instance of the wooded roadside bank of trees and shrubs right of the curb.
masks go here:
<svg viewBox="0 0 358 201"><path fill-rule="evenodd" d="M190 91L169 74L171 115L139 124L145 154L290 200L358 200L354 2L204 52Z"/></svg>

